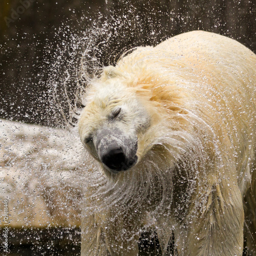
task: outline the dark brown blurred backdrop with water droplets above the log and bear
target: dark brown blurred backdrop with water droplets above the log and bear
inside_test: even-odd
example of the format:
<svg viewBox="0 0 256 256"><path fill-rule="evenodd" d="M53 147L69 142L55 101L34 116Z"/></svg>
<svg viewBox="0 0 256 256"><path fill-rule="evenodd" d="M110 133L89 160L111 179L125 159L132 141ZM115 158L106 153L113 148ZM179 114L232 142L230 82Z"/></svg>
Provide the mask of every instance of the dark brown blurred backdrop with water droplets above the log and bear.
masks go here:
<svg viewBox="0 0 256 256"><path fill-rule="evenodd" d="M0 1L0 117L11 120L65 126L53 98L68 116L82 55L92 76L135 46L198 29L256 52L253 0Z"/></svg>

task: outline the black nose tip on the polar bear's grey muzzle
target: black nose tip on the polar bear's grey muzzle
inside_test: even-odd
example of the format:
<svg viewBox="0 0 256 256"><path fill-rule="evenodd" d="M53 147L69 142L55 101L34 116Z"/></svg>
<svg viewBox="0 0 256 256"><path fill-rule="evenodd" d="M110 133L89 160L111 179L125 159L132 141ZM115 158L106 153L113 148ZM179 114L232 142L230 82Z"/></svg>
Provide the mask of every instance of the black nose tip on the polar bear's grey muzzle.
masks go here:
<svg viewBox="0 0 256 256"><path fill-rule="evenodd" d="M126 158L121 147L114 148L102 156L102 162L113 170L126 170Z"/></svg>

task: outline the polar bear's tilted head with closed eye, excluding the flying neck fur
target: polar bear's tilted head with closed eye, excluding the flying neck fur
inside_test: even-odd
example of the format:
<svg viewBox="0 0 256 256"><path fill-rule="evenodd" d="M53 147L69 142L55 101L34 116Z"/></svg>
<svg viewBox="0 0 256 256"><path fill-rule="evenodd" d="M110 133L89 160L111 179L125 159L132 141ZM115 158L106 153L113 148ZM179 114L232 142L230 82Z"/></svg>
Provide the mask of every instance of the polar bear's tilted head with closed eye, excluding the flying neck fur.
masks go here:
<svg viewBox="0 0 256 256"><path fill-rule="evenodd" d="M142 157L141 142L151 122L135 88L127 87L124 77L109 67L89 88L78 127L91 155L105 170L119 173Z"/></svg>

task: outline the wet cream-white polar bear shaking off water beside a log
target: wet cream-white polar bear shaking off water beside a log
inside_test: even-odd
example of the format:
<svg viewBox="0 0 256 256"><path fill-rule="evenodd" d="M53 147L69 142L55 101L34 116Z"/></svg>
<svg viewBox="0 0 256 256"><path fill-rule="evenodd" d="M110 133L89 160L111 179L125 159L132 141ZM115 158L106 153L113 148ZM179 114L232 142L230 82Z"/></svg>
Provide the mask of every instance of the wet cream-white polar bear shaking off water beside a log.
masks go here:
<svg viewBox="0 0 256 256"><path fill-rule="evenodd" d="M256 56L192 31L138 47L87 89L82 255L137 255L143 230L178 255L256 255ZM245 224L244 224L245 223Z"/></svg>

